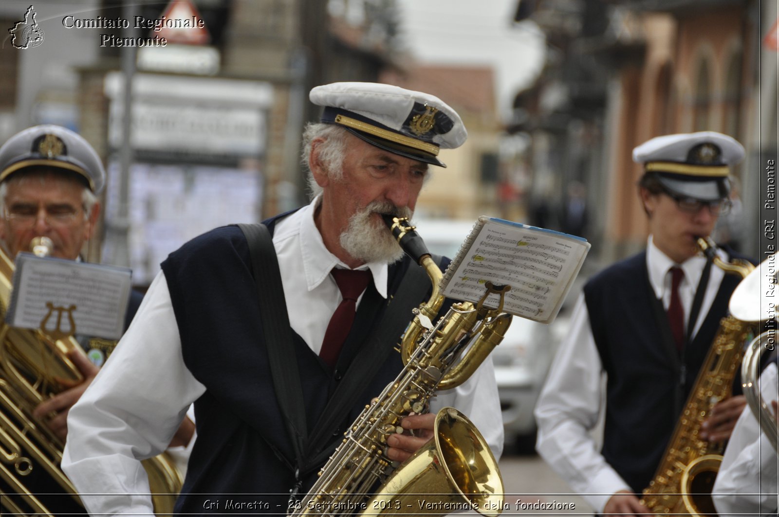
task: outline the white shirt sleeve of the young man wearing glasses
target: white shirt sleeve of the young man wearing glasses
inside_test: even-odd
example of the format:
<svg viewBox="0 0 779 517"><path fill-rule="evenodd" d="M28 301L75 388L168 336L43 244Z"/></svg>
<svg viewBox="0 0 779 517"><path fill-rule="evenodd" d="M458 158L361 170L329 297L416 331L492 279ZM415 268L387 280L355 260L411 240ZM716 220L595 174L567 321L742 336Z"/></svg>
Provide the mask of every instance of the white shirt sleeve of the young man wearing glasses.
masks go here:
<svg viewBox="0 0 779 517"><path fill-rule="evenodd" d="M602 369L587 305L580 296L569 335L555 356L536 404L536 448L552 470L599 513L616 491L631 490L597 451L590 435L601 411Z"/></svg>

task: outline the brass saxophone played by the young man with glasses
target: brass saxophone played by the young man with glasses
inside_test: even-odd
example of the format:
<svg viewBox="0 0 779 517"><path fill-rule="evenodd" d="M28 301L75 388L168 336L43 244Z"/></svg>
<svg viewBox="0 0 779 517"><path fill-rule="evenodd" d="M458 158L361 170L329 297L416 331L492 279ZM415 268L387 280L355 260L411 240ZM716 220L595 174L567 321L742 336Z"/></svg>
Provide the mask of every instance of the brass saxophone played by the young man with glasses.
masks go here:
<svg viewBox="0 0 779 517"><path fill-rule="evenodd" d="M740 259L724 262L716 255L714 241L710 238L701 237L697 244L725 273L743 279L755 267ZM720 320L717 336L700 367L657 473L643 491L641 502L650 512L717 515L711 489L722 462L724 443L698 438L700 424L714 404L731 396L733 379L741 364L743 343L755 332L756 325L752 322L742 322L730 315Z"/></svg>

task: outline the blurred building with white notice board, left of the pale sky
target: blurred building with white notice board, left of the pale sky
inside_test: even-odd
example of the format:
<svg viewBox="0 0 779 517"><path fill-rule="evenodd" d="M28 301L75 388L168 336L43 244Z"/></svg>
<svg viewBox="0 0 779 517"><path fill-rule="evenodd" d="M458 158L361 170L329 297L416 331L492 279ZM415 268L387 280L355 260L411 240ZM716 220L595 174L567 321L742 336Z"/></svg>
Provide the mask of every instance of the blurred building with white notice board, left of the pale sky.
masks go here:
<svg viewBox="0 0 779 517"><path fill-rule="evenodd" d="M148 283L160 260L196 234L304 203L300 135L306 121L319 117L308 90L340 80L375 81L393 66L393 0L183 3L205 23L206 36L197 44L181 44L180 33L108 21L172 16L167 9L179 9L176 2L41 0L34 22L43 43L19 49L6 35L0 46L0 140L55 123L95 146L109 178L88 259L103 255L115 262L112 241L126 238L136 283ZM3 2L2 32L29 7ZM97 27L74 27L74 20ZM130 69L128 47L101 45L104 37L160 35L167 35L167 47L130 49ZM122 126L128 70L129 137ZM129 178L122 181L127 148Z"/></svg>

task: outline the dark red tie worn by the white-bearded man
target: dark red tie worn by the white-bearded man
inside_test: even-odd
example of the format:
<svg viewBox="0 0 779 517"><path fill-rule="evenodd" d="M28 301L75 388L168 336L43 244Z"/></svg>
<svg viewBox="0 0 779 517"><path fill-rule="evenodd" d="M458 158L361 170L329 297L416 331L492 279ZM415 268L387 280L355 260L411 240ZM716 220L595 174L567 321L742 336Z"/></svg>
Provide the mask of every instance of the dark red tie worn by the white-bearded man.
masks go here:
<svg viewBox="0 0 779 517"><path fill-rule="evenodd" d="M338 360L341 346L349 335L351 324L354 322L354 311L357 308L357 299L360 297L368 282L371 281L370 271L356 271L354 269L333 269L330 272L333 279L338 284L341 296L344 300L333 312L330 323L327 324L325 339L322 342L322 350L319 350L319 357L322 357L330 368L333 368Z"/></svg>

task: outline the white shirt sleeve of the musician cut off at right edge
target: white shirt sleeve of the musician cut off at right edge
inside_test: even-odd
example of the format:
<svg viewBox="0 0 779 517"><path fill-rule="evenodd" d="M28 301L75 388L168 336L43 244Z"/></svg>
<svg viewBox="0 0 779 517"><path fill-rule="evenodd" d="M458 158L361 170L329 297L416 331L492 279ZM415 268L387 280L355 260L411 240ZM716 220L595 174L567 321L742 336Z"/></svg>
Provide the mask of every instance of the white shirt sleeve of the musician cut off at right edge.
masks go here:
<svg viewBox="0 0 779 517"><path fill-rule="evenodd" d="M777 399L777 367L760 375L760 392ZM714 482L712 498L719 515L763 515L777 512L777 453L760 430L749 406L733 429Z"/></svg>

